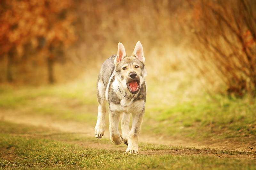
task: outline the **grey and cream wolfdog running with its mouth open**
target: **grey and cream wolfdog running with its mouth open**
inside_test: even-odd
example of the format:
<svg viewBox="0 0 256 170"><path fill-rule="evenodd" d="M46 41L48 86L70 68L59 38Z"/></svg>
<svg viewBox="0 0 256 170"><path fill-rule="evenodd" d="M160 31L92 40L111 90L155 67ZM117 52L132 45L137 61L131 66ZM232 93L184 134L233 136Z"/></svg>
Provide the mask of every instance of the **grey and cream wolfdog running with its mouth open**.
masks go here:
<svg viewBox="0 0 256 170"><path fill-rule="evenodd" d="M105 131L106 101L109 105L110 140L116 145L124 141L125 153L138 153L140 127L145 111L147 71L140 41L131 56L126 56L124 45L118 43L117 54L109 57L101 66L97 81L98 120L95 137L102 138ZM132 114L132 128L129 121ZM118 131L122 115L121 129Z"/></svg>

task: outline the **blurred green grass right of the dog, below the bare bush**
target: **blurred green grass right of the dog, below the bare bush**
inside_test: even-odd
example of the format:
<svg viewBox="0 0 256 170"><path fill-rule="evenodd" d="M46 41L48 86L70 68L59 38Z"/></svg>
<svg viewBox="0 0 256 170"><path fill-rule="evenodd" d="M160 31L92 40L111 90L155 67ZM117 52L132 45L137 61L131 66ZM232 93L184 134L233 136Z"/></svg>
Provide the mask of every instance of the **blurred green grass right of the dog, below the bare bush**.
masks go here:
<svg viewBox="0 0 256 170"><path fill-rule="evenodd" d="M250 101L251 100L251 101ZM178 103L173 107L146 110L148 120L158 122L145 127L156 133L183 134L191 137L220 138L256 136L255 99L218 98Z"/></svg>

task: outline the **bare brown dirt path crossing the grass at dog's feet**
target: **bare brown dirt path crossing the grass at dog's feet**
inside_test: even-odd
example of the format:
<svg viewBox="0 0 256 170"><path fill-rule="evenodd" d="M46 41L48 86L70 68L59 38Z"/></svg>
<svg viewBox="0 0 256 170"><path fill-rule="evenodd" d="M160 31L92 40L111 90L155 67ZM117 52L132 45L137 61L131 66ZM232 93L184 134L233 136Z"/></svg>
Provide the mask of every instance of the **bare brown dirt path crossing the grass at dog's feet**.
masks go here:
<svg viewBox="0 0 256 170"><path fill-rule="evenodd" d="M62 132L68 133L81 133L85 136L94 136L94 128L92 126L88 126L86 124L82 124L79 122L72 122L72 121L59 121L59 120L52 120L50 116L27 116L24 114L13 113L13 111L4 111L0 112L0 117L4 121L13 122L17 124L26 124L26 125L33 125L38 127L46 127L56 129ZM105 131L105 135L103 138L109 138L108 129ZM96 138L95 138L96 139ZM179 155L189 155L189 154L203 154L203 155L214 155L218 157L236 157L236 158L247 158L247 159L256 159L256 152L252 152L254 150L249 149L248 145L251 144L236 144L235 142L229 143L228 142L216 142L210 141L207 143L205 142L194 142L191 140L185 140L180 138L171 138L171 137L163 137L163 136L148 136L143 134L140 135L140 141L151 143L151 144L162 144L162 145L171 145L171 146L183 146L185 149L178 149L178 150L148 150L142 151L141 154L179 154ZM214 144L212 144L214 143ZM90 142L76 142L76 144L81 145L83 147L94 147L94 148L105 148L105 149L115 149L115 150L125 150L124 147L116 147L114 144L102 144L100 139L97 143L90 143ZM232 144L232 145L230 145ZM186 149L186 147L193 147L194 149ZM220 152L221 150L239 150L239 151L246 151L245 153L241 154L225 154ZM208 148L208 149L205 149ZM246 149L248 148L248 149ZM248 152L249 151L249 152Z"/></svg>

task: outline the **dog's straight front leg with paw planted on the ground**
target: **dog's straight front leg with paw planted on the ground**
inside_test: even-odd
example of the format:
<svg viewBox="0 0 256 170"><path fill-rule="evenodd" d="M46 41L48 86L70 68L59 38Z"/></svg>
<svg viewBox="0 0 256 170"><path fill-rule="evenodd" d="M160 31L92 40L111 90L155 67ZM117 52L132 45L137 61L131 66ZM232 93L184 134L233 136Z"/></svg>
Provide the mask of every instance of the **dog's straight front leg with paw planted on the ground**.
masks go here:
<svg viewBox="0 0 256 170"><path fill-rule="evenodd" d="M143 121L144 111L132 114L132 129L129 132L128 147L125 153L138 153L140 128Z"/></svg>

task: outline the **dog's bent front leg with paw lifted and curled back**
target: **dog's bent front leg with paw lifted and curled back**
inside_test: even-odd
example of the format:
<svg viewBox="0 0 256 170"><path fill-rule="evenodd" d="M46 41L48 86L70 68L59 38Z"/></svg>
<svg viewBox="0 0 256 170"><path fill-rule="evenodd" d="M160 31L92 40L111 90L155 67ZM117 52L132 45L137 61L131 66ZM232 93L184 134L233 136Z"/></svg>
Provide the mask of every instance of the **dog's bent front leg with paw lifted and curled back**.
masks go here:
<svg viewBox="0 0 256 170"><path fill-rule="evenodd" d="M123 141L122 135L118 131L120 112L111 111L109 109L109 134L110 140L116 145Z"/></svg>

